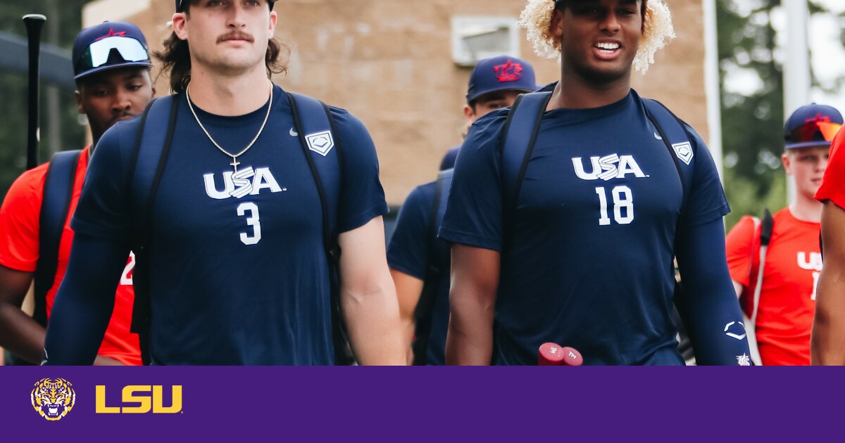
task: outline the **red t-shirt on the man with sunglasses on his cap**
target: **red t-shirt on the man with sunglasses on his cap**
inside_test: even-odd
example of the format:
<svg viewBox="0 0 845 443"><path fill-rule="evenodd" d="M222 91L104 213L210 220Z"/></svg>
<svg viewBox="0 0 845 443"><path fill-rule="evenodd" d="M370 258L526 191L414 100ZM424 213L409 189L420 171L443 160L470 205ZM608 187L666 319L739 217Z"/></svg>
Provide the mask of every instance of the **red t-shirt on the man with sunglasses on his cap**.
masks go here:
<svg viewBox="0 0 845 443"><path fill-rule="evenodd" d="M38 262L39 225L41 201L44 197L44 181L49 164L40 165L26 171L14 181L8 189L3 207L0 207L0 235L6 241L0 241L0 264L18 271L35 272ZM74 194L70 201L68 219L64 222L62 240L58 250L56 278L52 288L46 294L47 318L52 310L53 300L64 273L68 268L70 246L74 241L74 231L70 229L70 219L79 202L85 171L88 170L88 148L79 155L76 168ZM120 284L115 294L114 312L106 328L98 354L120 361L124 365L141 365L141 352L138 334L129 332L132 323L132 269L134 256L130 255Z"/></svg>

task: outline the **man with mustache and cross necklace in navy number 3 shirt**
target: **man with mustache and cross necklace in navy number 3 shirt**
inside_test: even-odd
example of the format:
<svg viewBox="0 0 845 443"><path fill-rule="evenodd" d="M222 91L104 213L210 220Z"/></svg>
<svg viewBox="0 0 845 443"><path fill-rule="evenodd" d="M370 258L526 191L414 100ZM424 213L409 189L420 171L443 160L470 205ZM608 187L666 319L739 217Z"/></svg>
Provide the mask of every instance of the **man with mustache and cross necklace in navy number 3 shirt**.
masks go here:
<svg viewBox="0 0 845 443"><path fill-rule="evenodd" d="M151 364L343 363L335 316L346 320L359 363L404 364L373 141L337 108L320 107L330 131L302 133L295 116L303 114L292 106L303 102L269 78L284 71L271 40L273 3L176 1L172 35L156 54L174 95L101 140L74 215L77 235L47 331L46 364L93 360L106 318L99 307L119 274L110 259L130 246L143 255L135 282L149 289ZM150 150L161 152L143 197L133 174L152 170L133 169L139 133L148 140L169 134L140 143L137 165L150 162ZM339 162L340 174L314 173L324 161ZM339 188L331 207L324 198L337 189L330 179ZM335 229L324 235L324 224Z"/></svg>

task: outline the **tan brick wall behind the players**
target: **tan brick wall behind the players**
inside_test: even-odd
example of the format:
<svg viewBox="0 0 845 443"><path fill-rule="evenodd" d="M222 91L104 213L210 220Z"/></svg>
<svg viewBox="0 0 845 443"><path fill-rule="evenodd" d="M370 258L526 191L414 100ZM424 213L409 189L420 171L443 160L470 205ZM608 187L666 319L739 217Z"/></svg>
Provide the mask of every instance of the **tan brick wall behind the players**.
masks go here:
<svg viewBox="0 0 845 443"><path fill-rule="evenodd" d="M96 3L96 2L95 2ZM172 0L151 0L150 10L128 19L157 48L169 34ZM700 0L668 0L678 38L657 53L642 76L641 95L656 98L706 139L704 47ZM461 143L466 82L471 68L451 57L455 15L519 17L515 0L282 0L276 36L292 48L282 88L344 107L367 125L379 150L389 203L399 204L414 186L433 180L444 152ZM96 6L90 6L95 8ZM557 62L535 57L521 36L522 58L537 82L559 77ZM156 84L159 95L168 88Z"/></svg>

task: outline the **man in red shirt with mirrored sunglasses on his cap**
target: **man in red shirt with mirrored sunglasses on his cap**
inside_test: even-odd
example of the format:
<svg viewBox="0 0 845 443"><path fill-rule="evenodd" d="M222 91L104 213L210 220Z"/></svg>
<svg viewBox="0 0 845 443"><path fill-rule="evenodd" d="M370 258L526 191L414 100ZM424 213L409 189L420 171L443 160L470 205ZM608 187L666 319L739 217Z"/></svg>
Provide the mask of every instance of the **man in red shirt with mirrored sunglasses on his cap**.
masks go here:
<svg viewBox="0 0 845 443"><path fill-rule="evenodd" d="M115 122L140 114L155 95L146 41L134 24L105 22L82 30L74 43L73 61L76 104L79 114L88 117L93 143L79 152L78 159L71 159L75 163L75 174L68 214L74 213L90 155L103 132ZM47 254L40 257L44 251L40 248L41 243L46 242L41 236L40 213L49 168L51 164L44 164L21 175L9 188L3 208L0 208L0 230L8 233L0 242L0 345L31 364L41 361L46 333L44 323L68 266L74 239L68 216L60 223L62 232L57 257ZM57 172L53 170L52 173ZM68 186L65 182L59 185ZM134 300L134 257L130 256L127 261L123 254L113 260L114 267L123 273L117 292L112 290L111 293L114 314L108 312L111 321L95 365L140 365L138 336L129 332ZM48 267L54 267L55 273L41 276ZM20 309L33 278L37 299L35 318ZM42 282L41 278L48 281Z"/></svg>

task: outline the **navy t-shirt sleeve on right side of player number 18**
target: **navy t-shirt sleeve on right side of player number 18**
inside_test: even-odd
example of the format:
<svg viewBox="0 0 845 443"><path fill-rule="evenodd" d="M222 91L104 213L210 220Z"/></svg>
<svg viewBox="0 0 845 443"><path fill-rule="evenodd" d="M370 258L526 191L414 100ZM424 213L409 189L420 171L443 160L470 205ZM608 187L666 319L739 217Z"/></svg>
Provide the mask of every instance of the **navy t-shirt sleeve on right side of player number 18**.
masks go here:
<svg viewBox="0 0 845 443"><path fill-rule="evenodd" d="M731 208L710 150L695 130L687 126L687 132L695 146L695 168L690 195L686 197L684 220L688 227L693 227L720 219L731 212Z"/></svg>

